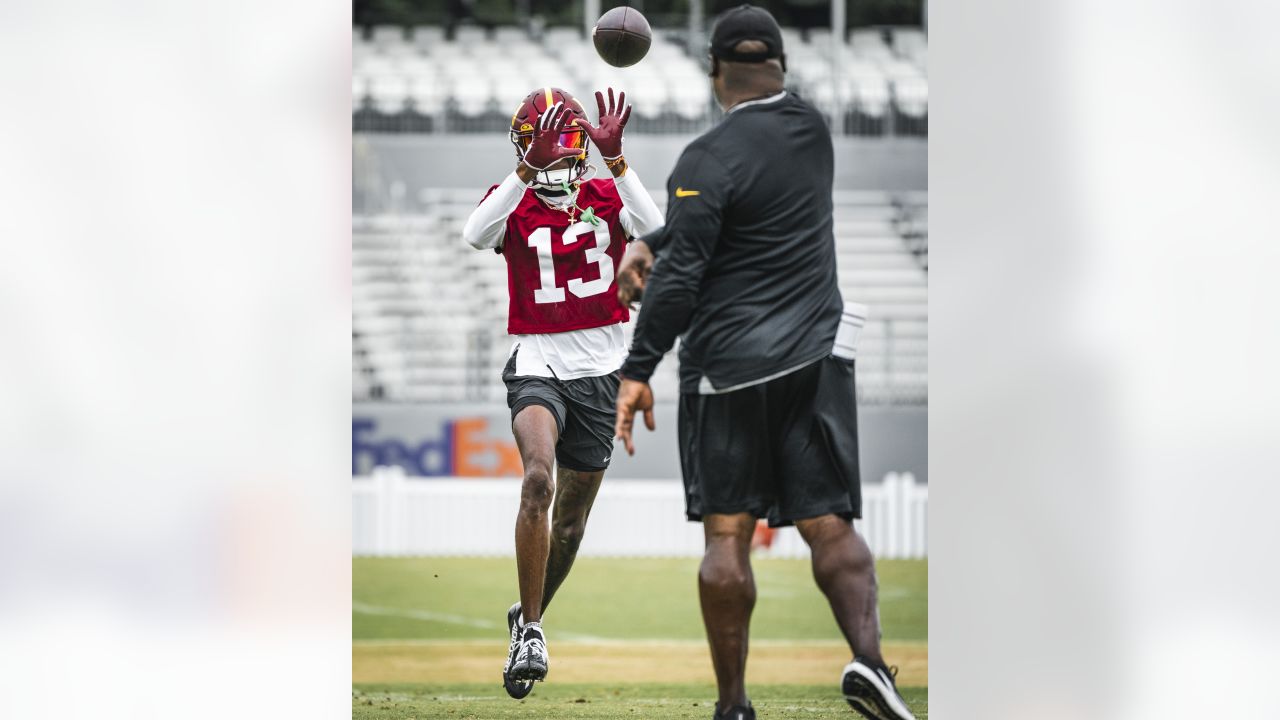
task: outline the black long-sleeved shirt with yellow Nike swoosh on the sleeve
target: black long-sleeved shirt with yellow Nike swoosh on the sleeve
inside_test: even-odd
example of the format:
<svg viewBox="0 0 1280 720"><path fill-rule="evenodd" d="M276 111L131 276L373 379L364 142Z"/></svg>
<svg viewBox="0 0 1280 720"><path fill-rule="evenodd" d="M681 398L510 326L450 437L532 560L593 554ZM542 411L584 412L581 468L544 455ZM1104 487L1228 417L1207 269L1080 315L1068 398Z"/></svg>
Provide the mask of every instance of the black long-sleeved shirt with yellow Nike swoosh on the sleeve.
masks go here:
<svg viewBox="0 0 1280 720"><path fill-rule="evenodd" d="M667 223L622 377L648 382L681 338L680 389L763 382L831 352L842 301L831 132L791 92L745 102L667 181Z"/></svg>

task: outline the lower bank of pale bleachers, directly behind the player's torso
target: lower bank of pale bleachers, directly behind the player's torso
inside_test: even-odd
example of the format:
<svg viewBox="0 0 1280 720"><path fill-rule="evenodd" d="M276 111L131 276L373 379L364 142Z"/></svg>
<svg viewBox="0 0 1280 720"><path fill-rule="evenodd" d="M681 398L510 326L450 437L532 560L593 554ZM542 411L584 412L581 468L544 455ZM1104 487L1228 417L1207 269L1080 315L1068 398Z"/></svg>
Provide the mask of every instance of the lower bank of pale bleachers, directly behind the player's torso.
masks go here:
<svg viewBox="0 0 1280 720"><path fill-rule="evenodd" d="M500 374L511 347L506 264L461 240L479 193L470 188L422 195L425 213L353 220L353 397L502 401ZM655 200L660 206L664 196ZM927 273L911 245L918 241L901 228L923 227L927 237L927 196L837 191L835 206L841 291L870 307L859 342L859 400L924 404ZM675 352L659 365L653 378L658 397L677 396L677 366Z"/></svg>

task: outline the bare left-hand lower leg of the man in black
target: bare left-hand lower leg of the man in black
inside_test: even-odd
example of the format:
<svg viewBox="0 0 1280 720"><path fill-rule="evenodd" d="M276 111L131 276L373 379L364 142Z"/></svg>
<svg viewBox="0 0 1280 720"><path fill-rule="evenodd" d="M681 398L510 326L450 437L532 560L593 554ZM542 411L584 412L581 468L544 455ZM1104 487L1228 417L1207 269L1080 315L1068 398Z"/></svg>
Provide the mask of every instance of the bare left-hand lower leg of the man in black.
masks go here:
<svg viewBox="0 0 1280 720"><path fill-rule="evenodd" d="M698 571L703 625L712 648L719 707L746 705L746 647L755 607L751 575L751 533L755 518L748 512L703 518L707 552Z"/></svg>

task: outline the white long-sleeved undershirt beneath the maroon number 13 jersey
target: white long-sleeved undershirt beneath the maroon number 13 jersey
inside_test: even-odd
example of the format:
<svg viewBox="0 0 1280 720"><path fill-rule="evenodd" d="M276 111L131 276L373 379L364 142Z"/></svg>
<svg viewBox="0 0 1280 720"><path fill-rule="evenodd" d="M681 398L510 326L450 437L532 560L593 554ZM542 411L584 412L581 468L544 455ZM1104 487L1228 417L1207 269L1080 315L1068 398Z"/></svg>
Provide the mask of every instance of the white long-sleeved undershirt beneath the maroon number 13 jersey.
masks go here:
<svg viewBox="0 0 1280 720"><path fill-rule="evenodd" d="M640 237L663 225L662 211L635 170L628 168L621 178L613 178L613 186L622 199L618 223L628 236ZM462 228L467 245L477 250L500 247L507 217L520 206L527 188L516 173L507 176L467 218ZM563 333L512 336L511 352L516 354L517 375L570 380L617 370L626 360L627 346L622 324L614 323Z"/></svg>

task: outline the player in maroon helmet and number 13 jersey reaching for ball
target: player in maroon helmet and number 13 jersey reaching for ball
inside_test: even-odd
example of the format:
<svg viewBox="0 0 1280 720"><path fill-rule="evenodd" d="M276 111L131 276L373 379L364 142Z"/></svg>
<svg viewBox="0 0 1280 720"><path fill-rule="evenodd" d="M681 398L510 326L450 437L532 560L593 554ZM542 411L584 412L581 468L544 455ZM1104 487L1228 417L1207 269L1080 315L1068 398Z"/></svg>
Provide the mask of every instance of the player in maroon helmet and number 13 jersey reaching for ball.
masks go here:
<svg viewBox="0 0 1280 720"><path fill-rule="evenodd" d="M489 190L462 231L472 247L507 259L513 342L502 379L525 466L516 518L520 602L507 612L503 667L516 698L547 676L543 612L573 564L613 454L628 319L616 300L614 268L627 241L663 224L622 155L626 94L614 100L609 88L608 106L600 92L595 102L593 126L568 92L530 92L511 118L516 169ZM611 179L593 179L591 143Z"/></svg>

